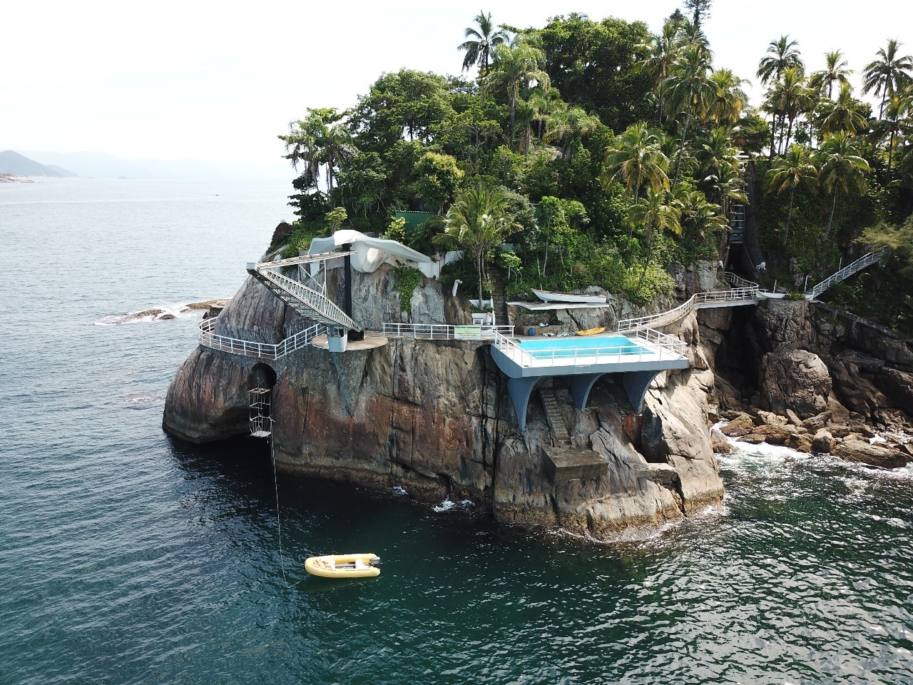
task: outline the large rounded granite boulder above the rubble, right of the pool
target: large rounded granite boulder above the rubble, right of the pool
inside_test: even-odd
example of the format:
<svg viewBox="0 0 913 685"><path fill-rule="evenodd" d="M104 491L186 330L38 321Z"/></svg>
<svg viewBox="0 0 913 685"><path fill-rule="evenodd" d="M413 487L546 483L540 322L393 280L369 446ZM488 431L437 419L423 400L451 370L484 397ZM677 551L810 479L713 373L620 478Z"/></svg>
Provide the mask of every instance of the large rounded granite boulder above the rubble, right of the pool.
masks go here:
<svg viewBox="0 0 913 685"><path fill-rule="evenodd" d="M827 409L831 376L817 354L782 347L761 360L761 396L774 414L807 418Z"/></svg>

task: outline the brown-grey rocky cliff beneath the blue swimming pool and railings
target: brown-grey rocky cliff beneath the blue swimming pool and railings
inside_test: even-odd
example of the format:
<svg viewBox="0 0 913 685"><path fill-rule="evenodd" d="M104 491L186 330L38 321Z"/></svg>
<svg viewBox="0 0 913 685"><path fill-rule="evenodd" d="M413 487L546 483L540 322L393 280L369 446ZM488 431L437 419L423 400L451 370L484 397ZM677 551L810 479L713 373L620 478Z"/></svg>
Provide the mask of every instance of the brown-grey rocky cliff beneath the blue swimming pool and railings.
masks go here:
<svg viewBox="0 0 913 685"><path fill-rule="evenodd" d="M683 270L681 289L707 290L704 281L714 278L708 265ZM331 291L341 294L332 272ZM352 300L354 318L369 330L404 317L385 267L357 274ZM435 280L425 279L411 304L416 321L469 319L467 300L450 297ZM552 329L604 325L623 312L632 308L619 302L602 318L591 314L585 321L567 311L555 317ZM688 343L692 368L658 377L643 416L635 415L614 375L597 382L585 411L572 405L561 378L540 382L551 383L547 389L567 428L562 445L536 401L530 402L527 428L519 430L506 379L482 342L391 339L337 354L308 347L267 363L200 347L173 380L163 424L197 442L246 433L247 391L271 383L275 373L273 440L280 469L378 489L402 486L428 501L470 499L499 521L607 538L722 498L709 442L708 393L730 317L723 310L700 317L690 315L675 331ZM248 279L219 315L216 332L278 342L306 324ZM556 450L590 455L588 470L562 477Z"/></svg>

